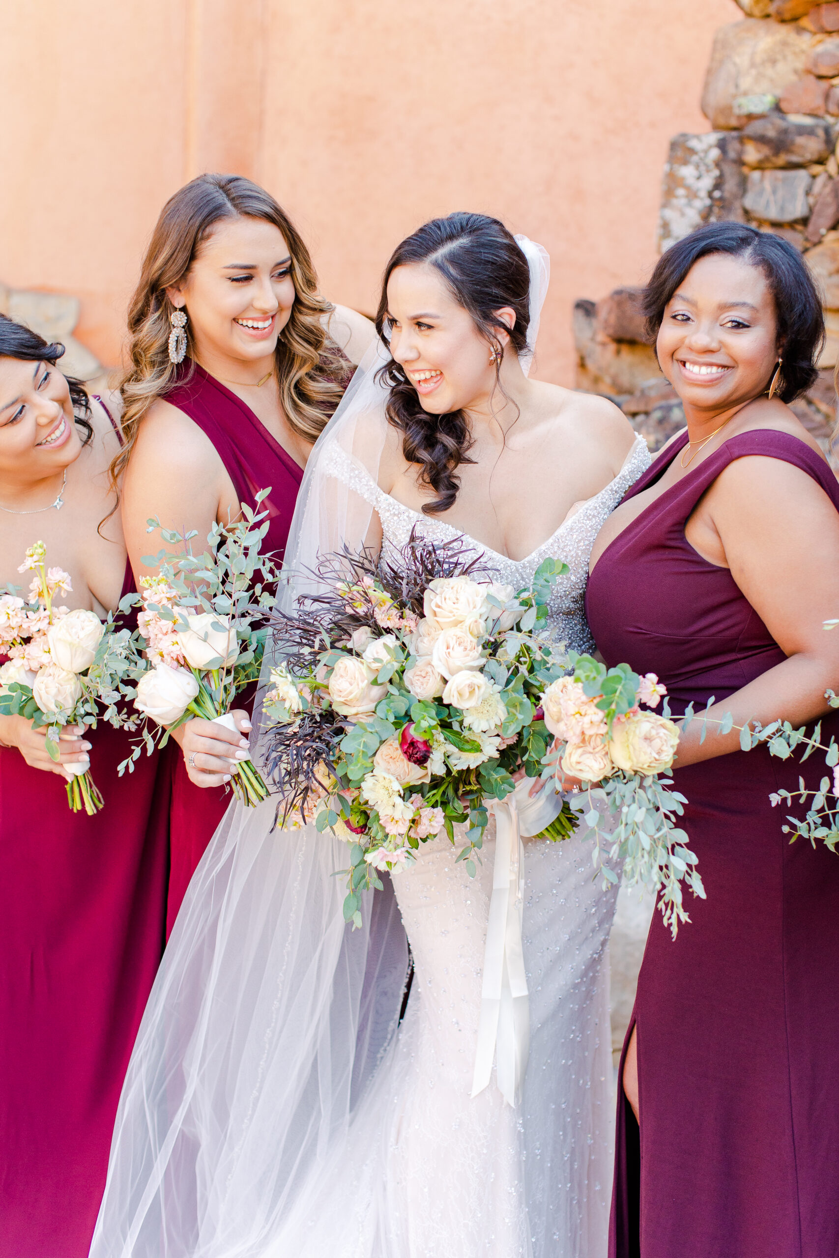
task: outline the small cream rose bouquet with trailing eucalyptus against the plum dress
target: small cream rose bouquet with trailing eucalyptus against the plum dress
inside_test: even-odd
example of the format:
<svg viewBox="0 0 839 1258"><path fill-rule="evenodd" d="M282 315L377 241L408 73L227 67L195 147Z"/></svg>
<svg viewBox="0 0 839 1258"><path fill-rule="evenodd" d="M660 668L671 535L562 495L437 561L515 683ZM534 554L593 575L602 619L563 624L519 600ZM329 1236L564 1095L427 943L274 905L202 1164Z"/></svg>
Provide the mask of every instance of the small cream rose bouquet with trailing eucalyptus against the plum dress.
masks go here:
<svg viewBox="0 0 839 1258"><path fill-rule="evenodd" d="M558 769L582 780L574 803L589 804L585 824L595 837L595 863L604 879L618 876L603 860L604 816L616 819L608 835L609 855L623 862L629 886L655 888L664 922L675 938L688 922L682 882L704 899L697 858L684 830L673 824L684 796L665 774L675 756L679 728L667 716L644 711L665 694L654 673L639 677L628 664L606 669L591 655L567 653L571 676L552 682L542 696L543 720L556 737L543 775ZM594 804L605 808L597 810Z"/></svg>

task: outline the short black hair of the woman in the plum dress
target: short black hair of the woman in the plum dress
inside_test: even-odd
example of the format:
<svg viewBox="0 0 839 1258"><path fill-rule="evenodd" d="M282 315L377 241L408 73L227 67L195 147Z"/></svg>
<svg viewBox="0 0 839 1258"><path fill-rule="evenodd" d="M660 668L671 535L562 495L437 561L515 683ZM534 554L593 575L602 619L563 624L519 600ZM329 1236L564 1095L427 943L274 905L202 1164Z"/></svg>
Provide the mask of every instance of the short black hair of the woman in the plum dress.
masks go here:
<svg viewBox="0 0 839 1258"><path fill-rule="evenodd" d="M818 380L815 364L824 345L824 314L800 253L771 231L742 223L709 223L670 245L658 259L642 298L650 341L655 341L667 303L691 267L713 253L742 258L764 272L775 301L777 345L784 356L779 396L794 401Z"/></svg>

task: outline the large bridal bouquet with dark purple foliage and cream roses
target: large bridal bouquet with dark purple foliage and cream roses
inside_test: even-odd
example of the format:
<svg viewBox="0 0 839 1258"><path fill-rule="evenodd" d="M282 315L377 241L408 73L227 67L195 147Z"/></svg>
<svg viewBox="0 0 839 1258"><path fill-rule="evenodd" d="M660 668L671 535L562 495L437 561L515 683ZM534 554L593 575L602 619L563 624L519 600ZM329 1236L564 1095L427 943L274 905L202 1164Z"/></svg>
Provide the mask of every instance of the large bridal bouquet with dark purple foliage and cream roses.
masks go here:
<svg viewBox="0 0 839 1258"><path fill-rule="evenodd" d="M356 926L376 871L415 859L440 832L454 842L458 824L457 859L474 874L488 804L514 790L517 770L542 770L540 694L564 669L547 601L567 567L546 560L514 590L479 579L477 564L457 541L411 537L397 565L347 551L319 565L326 593L275 626L265 766L284 825L313 820L350 844L343 915ZM541 837L562 839L576 821L557 798Z"/></svg>

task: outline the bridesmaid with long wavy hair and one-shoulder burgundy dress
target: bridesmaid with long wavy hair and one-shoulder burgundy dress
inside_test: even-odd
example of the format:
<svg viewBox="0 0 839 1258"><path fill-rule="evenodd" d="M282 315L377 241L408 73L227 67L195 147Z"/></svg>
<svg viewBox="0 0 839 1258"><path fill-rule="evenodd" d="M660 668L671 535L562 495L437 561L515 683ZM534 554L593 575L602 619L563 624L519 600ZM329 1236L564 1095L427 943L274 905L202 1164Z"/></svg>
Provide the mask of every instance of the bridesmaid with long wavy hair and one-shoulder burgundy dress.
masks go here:
<svg viewBox="0 0 839 1258"><path fill-rule="evenodd" d="M375 331L318 293L303 240L264 189L201 175L164 206L128 311L122 384L122 522L133 570L161 547L147 520L197 530L234 520L270 488L267 551L282 557L308 452ZM239 733L187 721L171 747L167 936L221 820Z"/></svg>

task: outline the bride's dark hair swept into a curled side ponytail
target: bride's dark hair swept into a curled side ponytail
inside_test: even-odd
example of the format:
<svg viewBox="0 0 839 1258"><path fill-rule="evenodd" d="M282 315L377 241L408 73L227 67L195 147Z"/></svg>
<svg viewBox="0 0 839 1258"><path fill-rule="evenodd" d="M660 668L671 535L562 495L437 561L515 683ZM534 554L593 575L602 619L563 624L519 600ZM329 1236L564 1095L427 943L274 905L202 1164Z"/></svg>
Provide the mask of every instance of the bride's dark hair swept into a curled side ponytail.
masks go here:
<svg viewBox="0 0 839 1258"><path fill-rule="evenodd" d="M530 325L530 267L514 238L498 219L486 214L449 214L433 219L403 240L394 250L381 286L376 313L376 330L387 338L387 281L396 267L428 263L440 272L454 299L469 312L475 327L489 345L499 351L496 357L496 381L503 357L499 332L509 335L516 353L527 348ZM507 327L496 311L509 306L516 323ZM447 511L458 496L460 463L472 463L472 435L462 410L431 415L423 410L416 389L405 370L391 359L381 369L390 385L387 419L403 435L403 453L409 463L419 463L420 481L436 493L423 511Z"/></svg>

